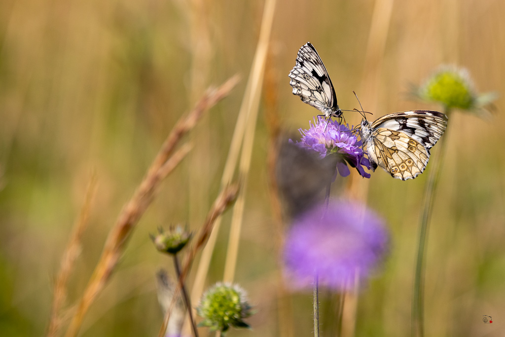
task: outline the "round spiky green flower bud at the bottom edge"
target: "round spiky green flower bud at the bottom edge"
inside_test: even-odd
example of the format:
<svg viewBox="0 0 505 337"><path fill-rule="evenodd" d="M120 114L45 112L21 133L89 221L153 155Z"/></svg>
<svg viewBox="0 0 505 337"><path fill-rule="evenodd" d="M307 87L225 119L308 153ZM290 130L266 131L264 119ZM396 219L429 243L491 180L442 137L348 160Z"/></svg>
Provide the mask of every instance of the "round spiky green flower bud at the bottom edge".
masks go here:
<svg viewBox="0 0 505 337"><path fill-rule="evenodd" d="M251 309L240 286L218 282L201 297L196 312L204 318L200 326L224 332L230 326L249 328L243 319L252 315Z"/></svg>

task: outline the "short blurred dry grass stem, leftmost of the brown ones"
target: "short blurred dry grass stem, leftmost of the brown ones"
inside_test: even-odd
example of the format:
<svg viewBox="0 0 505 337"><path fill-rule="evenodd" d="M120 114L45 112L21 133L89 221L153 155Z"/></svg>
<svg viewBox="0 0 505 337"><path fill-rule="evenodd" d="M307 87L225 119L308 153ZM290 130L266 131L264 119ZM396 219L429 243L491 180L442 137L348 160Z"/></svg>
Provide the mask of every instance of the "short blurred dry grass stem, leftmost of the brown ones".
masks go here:
<svg viewBox="0 0 505 337"><path fill-rule="evenodd" d="M89 211L91 209L91 203L93 201L95 192L96 175L93 173L91 174L91 178L86 189L86 198L84 199L84 204L82 205L79 218L74 225L72 235L70 236L67 247L63 253L60 270L58 272L58 276L56 277L47 336L55 336L62 324L63 317L61 314L61 309L65 304L65 300L67 298L67 282L70 274L72 273L72 270L74 269L75 260L81 252L81 237L88 224Z"/></svg>

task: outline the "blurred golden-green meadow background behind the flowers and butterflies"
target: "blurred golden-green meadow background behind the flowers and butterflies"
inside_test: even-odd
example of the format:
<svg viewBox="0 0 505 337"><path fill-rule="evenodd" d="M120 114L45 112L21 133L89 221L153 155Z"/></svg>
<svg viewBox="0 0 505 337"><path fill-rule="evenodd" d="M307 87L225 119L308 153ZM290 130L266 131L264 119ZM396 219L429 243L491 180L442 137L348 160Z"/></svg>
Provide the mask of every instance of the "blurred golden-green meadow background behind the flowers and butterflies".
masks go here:
<svg viewBox="0 0 505 337"><path fill-rule="evenodd" d="M162 312L155 274L160 267L173 268L148 234L176 223L197 230L217 196L263 5L0 2L1 334L45 333L55 275L90 177L96 176L97 189L65 308L82 295L117 214L176 120L206 87L238 73L242 81L191 132L193 150L162 184L81 328L84 336L158 333ZM291 94L287 77L307 41L325 62L339 105L358 107L356 90L373 118L439 110L410 101L406 92L409 83L421 83L440 64L468 68L481 92L503 93L504 13L499 0L278 0L262 97L273 100L269 106L283 130L308 127L316 110ZM279 334L266 102L259 108L235 274L257 314L248 319L254 330L230 335ZM427 335L505 333L504 103L498 98L488 122L458 112L449 121L426 257ZM351 124L360 121L357 114L345 116ZM391 254L361 292L358 336L410 331L427 176L403 182L377 171L360 181L369 205L387 219ZM208 284L222 279L230 214L223 218ZM192 277L194 270L189 285ZM334 335L335 297L323 291L320 298L322 333ZM311 294L296 293L290 301L295 335L311 335ZM492 316L493 323L484 324L482 315Z"/></svg>

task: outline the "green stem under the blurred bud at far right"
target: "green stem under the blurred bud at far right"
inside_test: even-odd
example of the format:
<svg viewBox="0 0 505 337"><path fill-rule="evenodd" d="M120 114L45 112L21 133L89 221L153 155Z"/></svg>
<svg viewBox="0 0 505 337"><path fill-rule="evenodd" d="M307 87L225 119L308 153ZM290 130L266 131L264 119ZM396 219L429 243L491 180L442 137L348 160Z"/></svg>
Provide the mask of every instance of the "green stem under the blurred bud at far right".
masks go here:
<svg viewBox="0 0 505 337"><path fill-rule="evenodd" d="M446 109L445 114L449 111ZM434 196L438 181L440 180L440 168L444 158L447 132L439 140L439 152L433 158L433 166L426 184L424 196L424 209L419 223L419 245L416 260L416 272L414 274L414 288L412 294L412 336L424 336L424 255L427 246L427 233L433 210Z"/></svg>

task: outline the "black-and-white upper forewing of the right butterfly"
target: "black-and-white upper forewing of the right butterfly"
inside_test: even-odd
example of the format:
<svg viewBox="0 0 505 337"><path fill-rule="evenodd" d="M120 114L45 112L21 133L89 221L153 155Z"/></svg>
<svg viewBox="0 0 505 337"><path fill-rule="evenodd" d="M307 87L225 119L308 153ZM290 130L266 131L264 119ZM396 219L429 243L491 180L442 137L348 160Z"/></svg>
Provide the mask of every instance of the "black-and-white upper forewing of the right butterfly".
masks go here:
<svg viewBox="0 0 505 337"><path fill-rule="evenodd" d="M380 117L371 127L403 132L426 149L431 149L447 127L447 116L429 110L396 112Z"/></svg>

